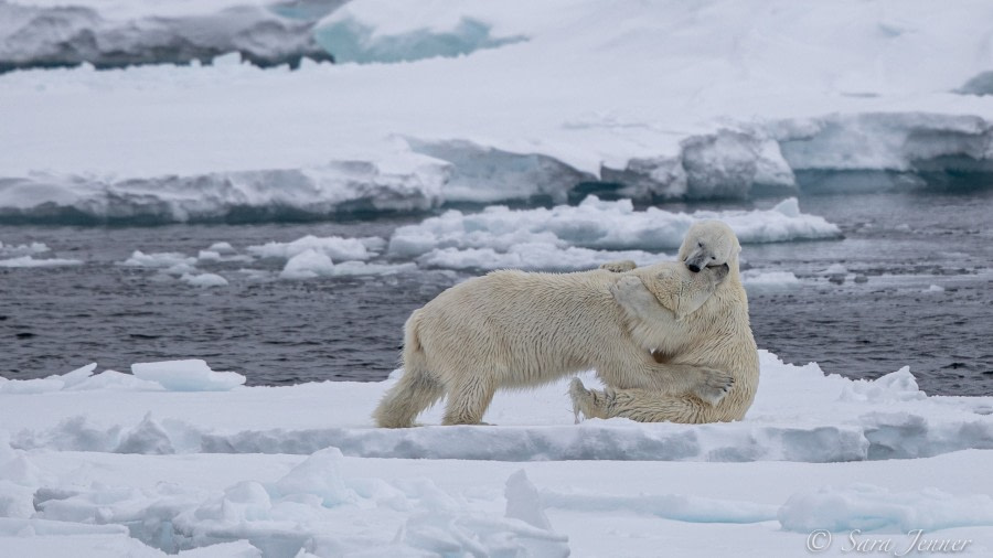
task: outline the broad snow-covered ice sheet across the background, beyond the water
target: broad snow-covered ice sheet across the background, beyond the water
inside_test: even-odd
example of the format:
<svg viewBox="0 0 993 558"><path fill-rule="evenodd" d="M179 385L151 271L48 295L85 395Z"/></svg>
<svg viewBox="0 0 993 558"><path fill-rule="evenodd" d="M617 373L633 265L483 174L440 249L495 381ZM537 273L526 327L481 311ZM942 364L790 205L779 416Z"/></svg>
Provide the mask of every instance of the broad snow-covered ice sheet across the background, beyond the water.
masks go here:
<svg viewBox="0 0 993 558"><path fill-rule="evenodd" d="M56 3L6 10L74 10ZM228 36L241 17L228 24L224 10L268 30L274 11L335 7L196 4L85 0L76 10L136 33L161 11L156 21L173 22L164 35L186 18ZM601 191L659 201L975 186L993 172L993 96L962 92L983 90L964 86L990 72L991 20L982 0L941 10L926 0L355 0L313 37L343 61L374 63L291 72L235 54L211 66L0 76L0 216L244 221ZM52 26L61 44L78 23ZM268 32L246 41L282 43Z"/></svg>

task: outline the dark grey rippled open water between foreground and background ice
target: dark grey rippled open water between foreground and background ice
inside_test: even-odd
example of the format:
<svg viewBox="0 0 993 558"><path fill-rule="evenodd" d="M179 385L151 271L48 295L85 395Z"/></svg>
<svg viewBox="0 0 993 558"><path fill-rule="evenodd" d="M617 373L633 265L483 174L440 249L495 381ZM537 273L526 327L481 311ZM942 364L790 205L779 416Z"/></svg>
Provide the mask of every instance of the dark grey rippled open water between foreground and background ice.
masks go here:
<svg viewBox="0 0 993 558"><path fill-rule="evenodd" d="M754 205L771 201L663 207ZM750 296L760 347L850 377L910 365L931 394L993 394L993 191L807 196L800 205L841 226L845 238L745 246L747 267L791 271L802 280L793 289ZM259 279L238 271L245 264L229 262L199 265L229 281L204 290L115 262L136 249L195 256L215 242L244 248L307 234L388 238L412 221L0 226L7 245L42 242L58 257L85 261L0 268L0 375L33 378L89 362L124 372L134 362L199 357L256 385L382 379L396 365L409 312L467 275L287 281ZM825 276L832 264L848 273ZM281 264L270 266L277 271ZM928 291L932 285L943 290Z"/></svg>

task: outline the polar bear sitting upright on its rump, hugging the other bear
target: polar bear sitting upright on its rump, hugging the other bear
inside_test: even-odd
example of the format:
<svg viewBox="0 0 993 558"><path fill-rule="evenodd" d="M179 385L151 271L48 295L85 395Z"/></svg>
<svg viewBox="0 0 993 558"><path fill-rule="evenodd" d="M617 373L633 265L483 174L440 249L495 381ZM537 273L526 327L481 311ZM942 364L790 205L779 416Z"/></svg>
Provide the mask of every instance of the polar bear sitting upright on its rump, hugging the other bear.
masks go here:
<svg viewBox="0 0 993 558"><path fill-rule="evenodd" d="M755 399L759 382L758 351L748 322L748 298L738 272L740 245L734 232L718 221L694 224L680 247L680 260L691 271L727 266L727 277L703 305L681 321L680 347L666 346L672 335L664 300L633 277L618 281L615 297L629 320L632 336L644 341L642 351L669 365L700 366L729 372L734 387L714 404L669 389L622 388L605 382L604 390L587 390L576 378L569 387L573 408L586 417L626 417L642 422L717 422L739 420Z"/></svg>

